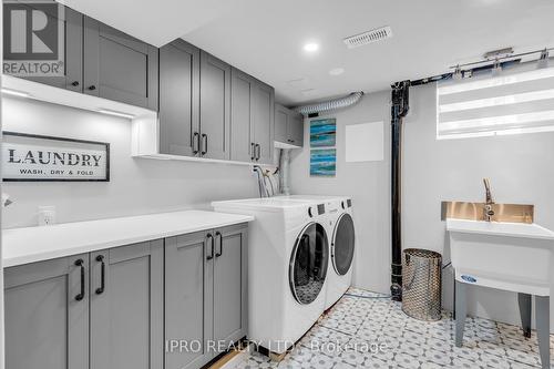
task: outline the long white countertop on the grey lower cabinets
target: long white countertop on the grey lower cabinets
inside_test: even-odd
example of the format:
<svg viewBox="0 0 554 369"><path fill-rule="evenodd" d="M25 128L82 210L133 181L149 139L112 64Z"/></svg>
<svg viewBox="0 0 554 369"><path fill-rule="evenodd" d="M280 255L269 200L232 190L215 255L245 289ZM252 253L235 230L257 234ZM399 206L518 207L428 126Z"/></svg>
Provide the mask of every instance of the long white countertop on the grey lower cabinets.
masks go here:
<svg viewBox="0 0 554 369"><path fill-rule="evenodd" d="M253 216L204 211L2 230L4 267L252 222Z"/></svg>

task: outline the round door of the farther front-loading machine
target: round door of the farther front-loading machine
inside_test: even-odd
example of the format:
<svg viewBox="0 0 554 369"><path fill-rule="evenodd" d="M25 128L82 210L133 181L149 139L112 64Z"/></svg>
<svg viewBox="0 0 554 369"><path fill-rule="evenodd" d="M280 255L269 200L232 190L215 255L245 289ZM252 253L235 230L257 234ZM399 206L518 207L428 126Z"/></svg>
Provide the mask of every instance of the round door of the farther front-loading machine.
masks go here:
<svg viewBox="0 0 554 369"><path fill-rule="evenodd" d="M350 269L353 259L355 230L350 214L343 213L337 221L332 235L332 266L339 276Z"/></svg>

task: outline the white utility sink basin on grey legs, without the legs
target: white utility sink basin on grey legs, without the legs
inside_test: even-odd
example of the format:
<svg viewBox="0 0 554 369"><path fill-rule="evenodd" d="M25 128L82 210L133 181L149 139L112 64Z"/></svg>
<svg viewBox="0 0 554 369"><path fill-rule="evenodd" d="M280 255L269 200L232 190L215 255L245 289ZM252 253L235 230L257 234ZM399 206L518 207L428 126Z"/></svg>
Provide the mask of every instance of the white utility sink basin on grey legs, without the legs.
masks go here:
<svg viewBox="0 0 554 369"><path fill-rule="evenodd" d="M554 232L536 224L447 219L461 283L550 296Z"/></svg>

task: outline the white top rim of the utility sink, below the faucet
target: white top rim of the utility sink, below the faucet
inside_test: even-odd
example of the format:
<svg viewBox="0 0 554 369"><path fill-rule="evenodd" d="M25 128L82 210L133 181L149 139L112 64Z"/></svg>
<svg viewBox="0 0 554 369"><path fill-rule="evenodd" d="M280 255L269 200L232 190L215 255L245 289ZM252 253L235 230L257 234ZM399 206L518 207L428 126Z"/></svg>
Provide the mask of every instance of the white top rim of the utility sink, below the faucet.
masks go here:
<svg viewBox="0 0 554 369"><path fill-rule="evenodd" d="M447 230L554 240L554 232L534 223L501 223L449 218L447 219Z"/></svg>

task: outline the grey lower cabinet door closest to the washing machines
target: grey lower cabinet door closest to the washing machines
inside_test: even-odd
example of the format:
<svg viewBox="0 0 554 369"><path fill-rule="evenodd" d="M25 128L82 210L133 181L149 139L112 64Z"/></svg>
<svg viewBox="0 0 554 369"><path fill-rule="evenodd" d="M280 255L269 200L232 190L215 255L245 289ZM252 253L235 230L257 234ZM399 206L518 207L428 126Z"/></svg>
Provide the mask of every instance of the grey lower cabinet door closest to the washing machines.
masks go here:
<svg viewBox="0 0 554 369"><path fill-rule="evenodd" d="M247 227L215 230L214 340L225 346L247 331Z"/></svg>

